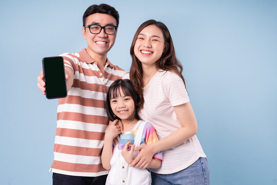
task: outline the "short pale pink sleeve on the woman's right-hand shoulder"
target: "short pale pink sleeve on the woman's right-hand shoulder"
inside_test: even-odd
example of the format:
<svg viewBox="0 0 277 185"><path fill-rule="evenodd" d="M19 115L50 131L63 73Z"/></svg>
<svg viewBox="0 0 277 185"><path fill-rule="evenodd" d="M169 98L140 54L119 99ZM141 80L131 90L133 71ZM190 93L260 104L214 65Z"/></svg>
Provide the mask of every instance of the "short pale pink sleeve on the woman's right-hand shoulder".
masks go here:
<svg viewBox="0 0 277 185"><path fill-rule="evenodd" d="M164 93L172 106L189 102L188 93L183 80L175 73L167 71L163 80Z"/></svg>

